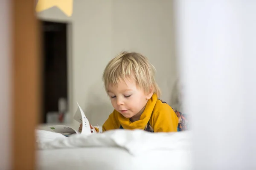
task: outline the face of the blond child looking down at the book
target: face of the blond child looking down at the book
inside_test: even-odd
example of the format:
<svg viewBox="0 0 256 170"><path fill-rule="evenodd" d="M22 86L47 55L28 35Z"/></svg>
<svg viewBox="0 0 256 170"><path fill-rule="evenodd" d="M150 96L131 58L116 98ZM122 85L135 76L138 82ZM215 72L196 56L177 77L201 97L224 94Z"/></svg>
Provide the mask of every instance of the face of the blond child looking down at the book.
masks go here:
<svg viewBox="0 0 256 170"><path fill-rule="evenodd" d="M126 118L137 117L143 113L145 105L152 94L145 94L144 91L137 87L134 79L127 79L119 85L108 88L108 95L116 111Z"/></svg>

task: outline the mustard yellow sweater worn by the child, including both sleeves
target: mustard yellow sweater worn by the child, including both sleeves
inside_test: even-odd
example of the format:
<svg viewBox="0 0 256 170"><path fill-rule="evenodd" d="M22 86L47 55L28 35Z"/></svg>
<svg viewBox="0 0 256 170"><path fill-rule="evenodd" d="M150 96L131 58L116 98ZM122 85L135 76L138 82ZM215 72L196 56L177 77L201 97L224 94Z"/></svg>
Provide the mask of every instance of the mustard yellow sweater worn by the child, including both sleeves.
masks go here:
<svg viewBox="0 0 256 170"><path fill-rule="evenodd" d="M120 126L130 130L144 130L148 122L154 132L176 132L178 117L167 103L157 99L157 94L153 94L151 99L148 100L145 110L140 116L140 120L131 122L129 118L125 118L122 114L114 110L103 124L102 131L119 129Z"/></svg>

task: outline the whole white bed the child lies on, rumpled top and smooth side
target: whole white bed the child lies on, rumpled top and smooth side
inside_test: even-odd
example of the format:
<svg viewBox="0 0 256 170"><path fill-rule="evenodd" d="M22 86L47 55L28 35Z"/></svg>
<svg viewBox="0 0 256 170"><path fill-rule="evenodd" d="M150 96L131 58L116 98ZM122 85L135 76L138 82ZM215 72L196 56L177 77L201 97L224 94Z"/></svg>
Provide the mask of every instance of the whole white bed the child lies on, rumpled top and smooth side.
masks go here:
<svg viewBox="0 0 256 170"><path fill-rule="evenodd" d="M52 132L38 133L38 170L191 169L189 131L167 134L112 130L68 138Z"/></svg>

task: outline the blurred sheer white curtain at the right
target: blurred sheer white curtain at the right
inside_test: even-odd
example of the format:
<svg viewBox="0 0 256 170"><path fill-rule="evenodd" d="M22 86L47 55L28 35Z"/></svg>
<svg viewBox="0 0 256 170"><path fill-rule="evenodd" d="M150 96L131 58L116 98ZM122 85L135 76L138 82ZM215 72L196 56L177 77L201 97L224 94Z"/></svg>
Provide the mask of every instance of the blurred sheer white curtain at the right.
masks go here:
<svg viewBox="0 0 256 170"><path fill-rule="evenodd" d="M256 0L174 0L195 170L256 169Z"/></svg>

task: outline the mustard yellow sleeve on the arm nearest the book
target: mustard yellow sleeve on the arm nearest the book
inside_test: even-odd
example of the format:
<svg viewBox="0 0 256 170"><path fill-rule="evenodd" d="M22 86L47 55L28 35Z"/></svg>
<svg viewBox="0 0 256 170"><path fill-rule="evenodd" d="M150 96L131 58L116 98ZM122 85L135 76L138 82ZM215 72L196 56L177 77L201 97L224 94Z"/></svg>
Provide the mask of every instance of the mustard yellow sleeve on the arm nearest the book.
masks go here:
<svg viewBox="0 0 256 170"><path fill-rule="evenodd" d="M102 132L107 130L119 129L120 123L117 119L116 111L113 111L109 116L106 122L102 126Z"/></svg>

